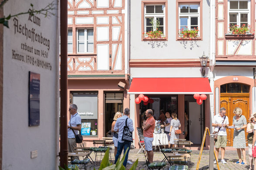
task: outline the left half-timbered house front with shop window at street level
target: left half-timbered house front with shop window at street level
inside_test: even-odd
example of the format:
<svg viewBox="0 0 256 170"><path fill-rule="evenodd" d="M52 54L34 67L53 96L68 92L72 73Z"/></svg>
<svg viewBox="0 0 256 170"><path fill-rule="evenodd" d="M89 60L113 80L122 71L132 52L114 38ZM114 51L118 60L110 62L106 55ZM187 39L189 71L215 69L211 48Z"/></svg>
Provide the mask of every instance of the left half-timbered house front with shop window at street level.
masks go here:
<svg viewBox="0 0 256 170"><path fill-rule="evenodd" d="M129 106L126 3L68 0L68 99L78 105L85 141L106 136L114 114Z"/></svg>

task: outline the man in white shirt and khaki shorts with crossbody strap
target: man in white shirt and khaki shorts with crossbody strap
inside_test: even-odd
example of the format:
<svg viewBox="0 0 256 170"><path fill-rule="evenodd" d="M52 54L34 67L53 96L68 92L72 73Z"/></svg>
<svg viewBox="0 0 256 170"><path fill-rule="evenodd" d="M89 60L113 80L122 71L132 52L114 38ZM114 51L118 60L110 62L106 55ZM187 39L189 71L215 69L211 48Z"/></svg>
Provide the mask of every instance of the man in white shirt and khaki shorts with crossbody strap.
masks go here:
<svg viewBox="0 0 256 170"><path fill-rule="evenodd" d="M218 132L218 139L215 142L215 153L218 159L219 149L221 147L221 163L226 164L224 160L225 147L227 146L227 131L226 128L229 126L228 116L226 116L226 109L222 107L220 113L215 115L212 121L212 126L214 126L214 132ZM214 161L216 163L216 160Z"/></svg>

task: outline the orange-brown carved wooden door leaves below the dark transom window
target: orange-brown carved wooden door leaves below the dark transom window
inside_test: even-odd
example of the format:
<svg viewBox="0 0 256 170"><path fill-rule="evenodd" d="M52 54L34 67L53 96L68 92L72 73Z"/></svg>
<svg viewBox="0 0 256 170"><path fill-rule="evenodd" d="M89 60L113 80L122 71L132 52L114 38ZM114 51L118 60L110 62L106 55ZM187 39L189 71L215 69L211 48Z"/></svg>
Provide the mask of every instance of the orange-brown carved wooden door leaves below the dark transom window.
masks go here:
<svg viewBox="0 0 256 170"><path fill-rule="evenodd" d="M224 93L221 94L220 107L225 107L227 110L226 116L228 116L229 126L233 125L233 117L235 114L233 113L236 107L242 109L242 115L246 116L246 120L248 123L248 119L250 117L249 113L249 93ZM246 129L245 129L246 132ZM233 134L234 129L227 129L227 146L233 146ZM247 133L246 133L246 141L247 141ZM246 146L247 143L246 143Z"/></svg>

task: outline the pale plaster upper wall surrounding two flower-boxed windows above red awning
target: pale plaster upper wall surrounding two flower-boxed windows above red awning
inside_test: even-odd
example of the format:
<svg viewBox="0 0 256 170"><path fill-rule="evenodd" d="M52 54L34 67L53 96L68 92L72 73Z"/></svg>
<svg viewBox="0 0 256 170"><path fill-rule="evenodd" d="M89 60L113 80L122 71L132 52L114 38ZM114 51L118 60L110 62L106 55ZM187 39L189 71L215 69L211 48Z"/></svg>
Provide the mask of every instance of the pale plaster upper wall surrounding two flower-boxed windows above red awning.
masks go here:
<svg viewBox="0 0 256 170"><path fill-rule="evenodd" d="M209 56L210 7L209 1L203 4L203 40L176 41L176 0L168 0L168 41L142 41L141 0L131 0L131 59L184 59Z"/></svg>

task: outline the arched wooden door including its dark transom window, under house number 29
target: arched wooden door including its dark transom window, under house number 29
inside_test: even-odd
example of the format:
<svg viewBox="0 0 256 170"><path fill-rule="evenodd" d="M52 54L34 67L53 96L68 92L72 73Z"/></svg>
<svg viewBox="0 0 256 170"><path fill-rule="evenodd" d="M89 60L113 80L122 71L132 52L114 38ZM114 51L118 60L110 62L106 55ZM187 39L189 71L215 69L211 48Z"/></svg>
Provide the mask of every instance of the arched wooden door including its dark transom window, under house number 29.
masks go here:
<svg viewBox="0 0 256 170"><path fill-rule="evenodd" d="M249 85L240 84L240 83L228 83L221 85L221 95L220 95L220 108L225 107L226 116L228 116L229 126L233 124L233 113L236 107L242 109L242 115L246 116L246 121L250 117L249 113ZM216 110L216 113L219 111ZM233 146L233 136L234 129L227 129L227 146ZM246 133L247 140L247 133ZM248 144L246 143L246 146Z"/></svg>

